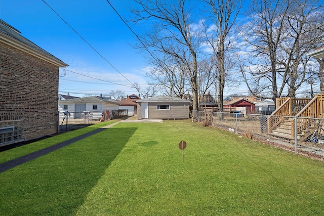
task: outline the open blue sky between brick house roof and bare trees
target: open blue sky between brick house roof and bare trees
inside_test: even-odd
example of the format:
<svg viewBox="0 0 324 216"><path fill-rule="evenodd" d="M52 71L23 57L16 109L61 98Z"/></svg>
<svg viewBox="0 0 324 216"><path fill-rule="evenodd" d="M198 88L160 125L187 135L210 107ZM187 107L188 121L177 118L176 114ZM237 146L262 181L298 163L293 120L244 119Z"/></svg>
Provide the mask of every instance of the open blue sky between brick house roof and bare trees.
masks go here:
<svg viewBox="0 0 324 216"><path fill-rule="evenodd" d="M131 83L127 79L145 88L146 63L139 51L132 47L135 44L135 36L107 1L45 0L45 2L117 69L100 57L43 1L0 0L0 19L69 65L65 68L66 75L60 76L60 94L69 92L70 95L83 97L108 95L111 90L124 91L125 96L136 94L136 90L130 88ZM131 15L129 4L132 1L109 2L122 17L128 18ZM132 26L132 29L135 32L141 30L140 26ZM63 74L62 69L60 74Z"/></svg>

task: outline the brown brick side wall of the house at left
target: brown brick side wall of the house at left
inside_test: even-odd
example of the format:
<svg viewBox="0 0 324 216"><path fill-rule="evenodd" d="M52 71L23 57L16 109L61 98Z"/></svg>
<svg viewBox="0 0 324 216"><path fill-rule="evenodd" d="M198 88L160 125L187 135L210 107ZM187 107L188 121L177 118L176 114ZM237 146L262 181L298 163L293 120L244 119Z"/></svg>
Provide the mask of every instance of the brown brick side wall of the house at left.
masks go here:
<svg viewBox="0 0 324 216"><path fill-rule="evenodd" d="M0 115L22 116L26 140L57 132L58 71L58 66L0 42Z"/></svg>

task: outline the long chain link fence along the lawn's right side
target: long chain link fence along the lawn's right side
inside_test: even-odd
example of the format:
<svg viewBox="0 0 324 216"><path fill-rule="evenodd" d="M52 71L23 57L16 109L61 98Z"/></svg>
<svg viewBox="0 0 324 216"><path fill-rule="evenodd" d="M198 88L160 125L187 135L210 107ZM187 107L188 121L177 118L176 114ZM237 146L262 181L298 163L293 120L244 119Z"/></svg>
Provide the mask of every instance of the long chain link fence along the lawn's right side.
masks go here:
<svg viewBox="0 0 324 216"><path fill-rule="evenodd" d="M324 119L192 111L203 126L214 126L295 153L324 159Z"/></svg>

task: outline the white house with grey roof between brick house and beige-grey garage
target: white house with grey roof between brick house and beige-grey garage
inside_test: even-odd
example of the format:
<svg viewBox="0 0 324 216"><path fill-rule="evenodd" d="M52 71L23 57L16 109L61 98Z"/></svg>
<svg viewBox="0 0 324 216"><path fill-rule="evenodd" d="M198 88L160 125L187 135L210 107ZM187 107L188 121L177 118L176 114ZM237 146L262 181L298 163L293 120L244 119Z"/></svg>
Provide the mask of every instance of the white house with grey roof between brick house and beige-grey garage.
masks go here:
<svg viewBox="0 0 324 216"><path fill-rule="evenodd" d="M99 97L85 97L61 100L58 104L60 113L68 111L71 118L84 118L84 112L92 112L93 119L102 118L102 114L109 110L118 110L119 105L116 102L106 101Z"/></svg>

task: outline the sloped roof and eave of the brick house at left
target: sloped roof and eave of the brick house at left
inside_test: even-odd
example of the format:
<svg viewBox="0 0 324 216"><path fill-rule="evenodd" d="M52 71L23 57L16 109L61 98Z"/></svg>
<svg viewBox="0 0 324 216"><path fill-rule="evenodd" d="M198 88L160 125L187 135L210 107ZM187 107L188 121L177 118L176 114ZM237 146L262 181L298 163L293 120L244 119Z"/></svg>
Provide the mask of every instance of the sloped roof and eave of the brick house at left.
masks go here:
<svg viewBox="0 0 324 216"><path fill-rule="evenodd" d="M57 65L58 67L68 66L60 59L56 58L49 52L43 50L27 38L23 37L20 31L18 31L16 28L12 27L2 19L0 19L0 41L39 59L43 59L49 63Z"/></svg>

